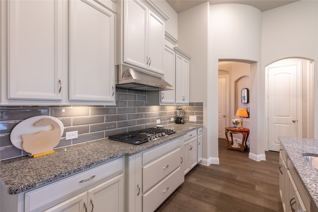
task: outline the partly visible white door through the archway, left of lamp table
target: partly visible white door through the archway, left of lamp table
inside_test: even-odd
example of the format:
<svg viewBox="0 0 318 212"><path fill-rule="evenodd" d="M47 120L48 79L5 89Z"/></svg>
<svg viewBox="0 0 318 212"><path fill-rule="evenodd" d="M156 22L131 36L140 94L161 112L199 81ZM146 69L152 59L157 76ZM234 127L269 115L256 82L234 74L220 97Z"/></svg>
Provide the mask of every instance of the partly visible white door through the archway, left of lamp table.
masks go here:
<svg viewBox="0 0 318 212"><path fill-rule="evenodd" d="M218 104L219 104L219 116L218 116L218 134L220 139L225 139L225 127L226 127L226 77L219 77L218 83Z"/></svg>

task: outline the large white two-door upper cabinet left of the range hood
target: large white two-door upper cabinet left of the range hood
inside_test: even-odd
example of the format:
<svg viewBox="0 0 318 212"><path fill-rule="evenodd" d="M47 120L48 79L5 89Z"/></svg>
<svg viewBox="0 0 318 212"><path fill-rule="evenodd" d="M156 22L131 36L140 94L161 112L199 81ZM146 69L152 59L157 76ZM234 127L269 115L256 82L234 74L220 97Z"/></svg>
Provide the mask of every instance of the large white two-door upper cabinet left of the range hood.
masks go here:
<svg viewBox="0 0 318 212"><path fill-rule="evenodd" d="M1 4L1 105L115 105L112 0Z"/></svg>

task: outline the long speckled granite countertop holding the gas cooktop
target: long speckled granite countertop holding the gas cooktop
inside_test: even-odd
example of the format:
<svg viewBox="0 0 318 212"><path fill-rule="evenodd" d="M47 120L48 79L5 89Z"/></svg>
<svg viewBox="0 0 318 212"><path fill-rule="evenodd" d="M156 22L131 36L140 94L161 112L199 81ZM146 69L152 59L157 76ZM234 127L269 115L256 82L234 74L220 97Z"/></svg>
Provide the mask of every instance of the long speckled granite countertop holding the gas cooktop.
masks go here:
<svg viewBox="0 0 318 212"><path fill-rule="evenodd" d="M54 154L40 157L22 156L0 161L1 183L8 194L25 192L79 173L124 155L134 155L185 135L201 125L167 125L176 133L139 146L107 138L55 149Z"/></svg>

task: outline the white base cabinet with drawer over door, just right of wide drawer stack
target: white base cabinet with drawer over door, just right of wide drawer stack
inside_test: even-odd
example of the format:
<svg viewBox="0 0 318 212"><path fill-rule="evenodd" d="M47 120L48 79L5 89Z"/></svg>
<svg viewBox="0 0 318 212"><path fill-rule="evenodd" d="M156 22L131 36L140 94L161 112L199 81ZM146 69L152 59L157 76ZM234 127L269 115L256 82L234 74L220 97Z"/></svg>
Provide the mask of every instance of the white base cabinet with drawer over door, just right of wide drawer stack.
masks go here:
<svg viewBox="0 0 318 212"><path fill-rule="evenodd" d="M182 150L182 170L184 175L188 173L197 163L197 130L190 131L184 137Z"/></svg>

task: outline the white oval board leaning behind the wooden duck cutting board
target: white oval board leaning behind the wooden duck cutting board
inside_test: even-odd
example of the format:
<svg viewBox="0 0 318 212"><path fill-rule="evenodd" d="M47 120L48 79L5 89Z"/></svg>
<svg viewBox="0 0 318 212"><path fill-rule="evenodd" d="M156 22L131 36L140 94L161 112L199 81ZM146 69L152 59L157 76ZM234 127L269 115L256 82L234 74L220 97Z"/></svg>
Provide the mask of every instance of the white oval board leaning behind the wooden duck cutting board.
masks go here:
<svg viewBox="0 0 318 212"><path fill-rule="evenodd" d="M60 127L61 127L61 137L63 135L64 132L64 125L63 123L52 116L34 116L31 118L28 118L26 120L23 120L22 122L20 122L19 124L17 124L11 131L10 134L10 140L11 143L19 148L19 149L23 149L22 147L22 135L28 135L28 134L35 134L35 133L39 133L41 131L50 131L52 130L52 126L44 126L44 127L35 127L34 124L37 123L38 121L40 121L41 119L44 118L49 118L49 119L53 119L54 121L56 121Z"/></svg>

